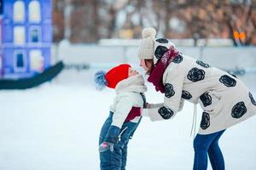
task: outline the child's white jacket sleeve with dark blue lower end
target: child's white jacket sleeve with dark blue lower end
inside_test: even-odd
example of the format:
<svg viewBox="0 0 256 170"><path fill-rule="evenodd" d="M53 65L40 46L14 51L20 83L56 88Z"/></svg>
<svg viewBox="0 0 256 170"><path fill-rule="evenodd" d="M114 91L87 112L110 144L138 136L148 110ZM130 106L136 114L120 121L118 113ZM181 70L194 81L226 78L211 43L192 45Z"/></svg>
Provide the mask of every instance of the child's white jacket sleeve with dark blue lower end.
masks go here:
<svg viewBox="0 0 256 170"><path fill-rule="evenodd" d="M108 129L105 141L116 143L119 139L120 129L129 115L133 106L132 99L128 94L122 94L117 99L116 110L113 113L113 121Z"/></svg>

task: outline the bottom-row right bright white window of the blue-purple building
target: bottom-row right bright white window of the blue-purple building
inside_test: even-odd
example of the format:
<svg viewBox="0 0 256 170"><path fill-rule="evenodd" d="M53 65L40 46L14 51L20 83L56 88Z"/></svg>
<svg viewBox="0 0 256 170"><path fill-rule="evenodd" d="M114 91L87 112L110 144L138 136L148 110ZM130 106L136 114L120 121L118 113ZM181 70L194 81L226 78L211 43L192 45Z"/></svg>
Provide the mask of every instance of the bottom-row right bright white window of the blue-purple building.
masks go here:
<svg viewBox="0 0 256 170"><path fill-rule="evenodd" d="M32 71L42 72L44 70L44 58L38 49L30 51L30 68Z"/></svg>

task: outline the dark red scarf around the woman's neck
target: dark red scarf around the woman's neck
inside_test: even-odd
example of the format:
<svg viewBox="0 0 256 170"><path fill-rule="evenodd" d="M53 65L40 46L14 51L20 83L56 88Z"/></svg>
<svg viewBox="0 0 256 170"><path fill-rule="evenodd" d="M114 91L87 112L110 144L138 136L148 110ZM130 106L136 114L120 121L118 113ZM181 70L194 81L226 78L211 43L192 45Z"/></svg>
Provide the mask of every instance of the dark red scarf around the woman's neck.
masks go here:
<svg viewBox="0 0 256 170"><path fill-rule="evenodd" d="M154 65L154 68L150 72L148 77L148 82L152 82L155 90L160 93L165 93L165 85L163 84L163 75L166 71L167 66L175 59L179 54L176 48L169 48L168 51L163 54L161 59L158 59L157 63Z"/></svg>

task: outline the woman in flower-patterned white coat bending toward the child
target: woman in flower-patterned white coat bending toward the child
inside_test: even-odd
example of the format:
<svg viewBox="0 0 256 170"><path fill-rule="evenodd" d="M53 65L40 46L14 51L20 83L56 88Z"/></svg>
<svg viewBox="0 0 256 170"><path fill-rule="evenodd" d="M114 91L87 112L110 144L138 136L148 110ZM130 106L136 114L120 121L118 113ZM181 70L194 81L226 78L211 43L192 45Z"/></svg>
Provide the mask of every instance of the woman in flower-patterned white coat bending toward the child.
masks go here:
<svg viewBox="0 0 256 170"><path fill-rule="evenodd" d="M224 170L218 139L228 127L256 114L253 95L236 77L181 54L172 42L155 35L154 28L143 30L138 58L148 82L165 97L162 104L149 105L143 115L152 121L166 120L182 109L184 99L200 103L203 113L194 140L193 169L206 170L208 155L213 169Z"/></svg>

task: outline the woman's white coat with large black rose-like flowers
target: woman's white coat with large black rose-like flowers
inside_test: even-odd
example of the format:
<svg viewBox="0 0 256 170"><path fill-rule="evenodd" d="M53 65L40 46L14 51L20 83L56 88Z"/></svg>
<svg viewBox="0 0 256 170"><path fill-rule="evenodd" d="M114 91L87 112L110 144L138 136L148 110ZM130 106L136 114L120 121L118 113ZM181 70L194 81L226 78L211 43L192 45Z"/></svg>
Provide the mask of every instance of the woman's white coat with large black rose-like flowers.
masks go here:
<svg viewBox="0 0 256 170"><path fill-rule="evenodd" d="M164 45L156 43L154 62L159 46ZM201 134L216 133L256 114L256 102L243 82L189 56L181 54L174 59L162 81L166 87L164 103L148 109L152 121L175 116L183 99L201 105Z"/></svg>

